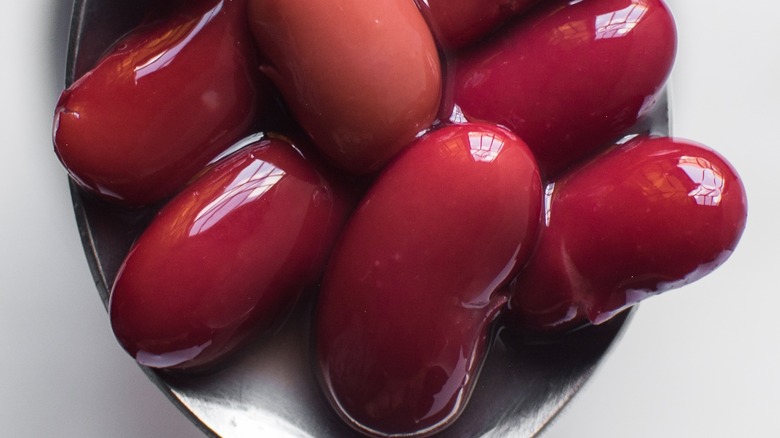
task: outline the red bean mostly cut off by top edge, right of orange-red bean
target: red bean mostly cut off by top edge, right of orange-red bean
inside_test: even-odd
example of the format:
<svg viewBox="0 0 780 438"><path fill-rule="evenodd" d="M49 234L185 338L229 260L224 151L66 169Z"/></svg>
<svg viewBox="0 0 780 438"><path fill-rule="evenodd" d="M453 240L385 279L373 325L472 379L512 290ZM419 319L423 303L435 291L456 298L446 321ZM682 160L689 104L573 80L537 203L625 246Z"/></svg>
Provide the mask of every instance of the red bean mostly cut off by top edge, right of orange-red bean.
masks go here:
<svg viewBox="0 0 780 438"><path fill-rule="evenodd" d="M418 0L439 44L457 49L543 0Z"/></svg>

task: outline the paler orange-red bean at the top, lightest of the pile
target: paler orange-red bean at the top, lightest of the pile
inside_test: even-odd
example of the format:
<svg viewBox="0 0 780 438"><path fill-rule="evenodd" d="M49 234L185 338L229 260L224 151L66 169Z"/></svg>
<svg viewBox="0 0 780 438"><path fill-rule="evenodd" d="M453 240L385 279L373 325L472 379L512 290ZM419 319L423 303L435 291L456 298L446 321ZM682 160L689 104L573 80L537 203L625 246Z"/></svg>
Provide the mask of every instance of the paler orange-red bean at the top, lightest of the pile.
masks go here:
<svg viewBox="0 0 780 438"><path fill-rule="evenodd" d="M414 2L250 0L249 17L263 72L339 167L376 171L434 121L441 69Z"/></svg>

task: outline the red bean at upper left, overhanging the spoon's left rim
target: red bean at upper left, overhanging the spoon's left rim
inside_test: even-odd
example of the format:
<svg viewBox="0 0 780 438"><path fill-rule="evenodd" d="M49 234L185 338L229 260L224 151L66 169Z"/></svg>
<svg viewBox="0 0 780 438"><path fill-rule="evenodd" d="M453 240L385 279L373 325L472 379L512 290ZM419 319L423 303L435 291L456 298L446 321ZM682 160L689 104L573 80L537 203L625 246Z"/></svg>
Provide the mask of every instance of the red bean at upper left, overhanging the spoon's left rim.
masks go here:
<svg viewBox="0 0 780 438"><path fill-rule="evenodd" d="M83 187L141 205L173 195L273 105L245 0L186 4L138 28L65 90L60 160Z"/></svg>

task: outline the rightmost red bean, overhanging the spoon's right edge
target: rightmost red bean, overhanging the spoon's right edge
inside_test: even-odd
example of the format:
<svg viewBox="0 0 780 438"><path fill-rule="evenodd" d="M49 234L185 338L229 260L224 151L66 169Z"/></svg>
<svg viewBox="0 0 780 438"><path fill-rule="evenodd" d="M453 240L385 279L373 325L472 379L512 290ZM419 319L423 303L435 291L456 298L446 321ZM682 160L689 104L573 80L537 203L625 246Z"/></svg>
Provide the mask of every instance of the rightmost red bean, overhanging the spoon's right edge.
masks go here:
<svg viewBox="0 0 780 438"><path fill-rule="evenodd" d="M548 186L539 246L513 283L512 323L599 323L701 278L736 247L746 202L731 165L695 143L638 137L598 156Z"/></svg>

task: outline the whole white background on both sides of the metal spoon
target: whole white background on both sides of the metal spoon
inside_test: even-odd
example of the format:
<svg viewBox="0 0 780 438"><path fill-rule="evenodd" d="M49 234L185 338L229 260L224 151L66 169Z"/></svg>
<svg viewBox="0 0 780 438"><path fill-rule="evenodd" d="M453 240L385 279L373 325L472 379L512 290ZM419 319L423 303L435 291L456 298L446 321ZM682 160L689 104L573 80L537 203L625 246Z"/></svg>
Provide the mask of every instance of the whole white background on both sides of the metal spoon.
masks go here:
<svg viewBox="0 0 780 438"><path fill-rule="evenodd" d="M670 6L674 133L739 170L747 230L715 273L642 304L545 438L780 436L780 3ZM13 2L0 30L0 435L198 437L115 343L87 268L50 137L61 9Z"/></svg>

